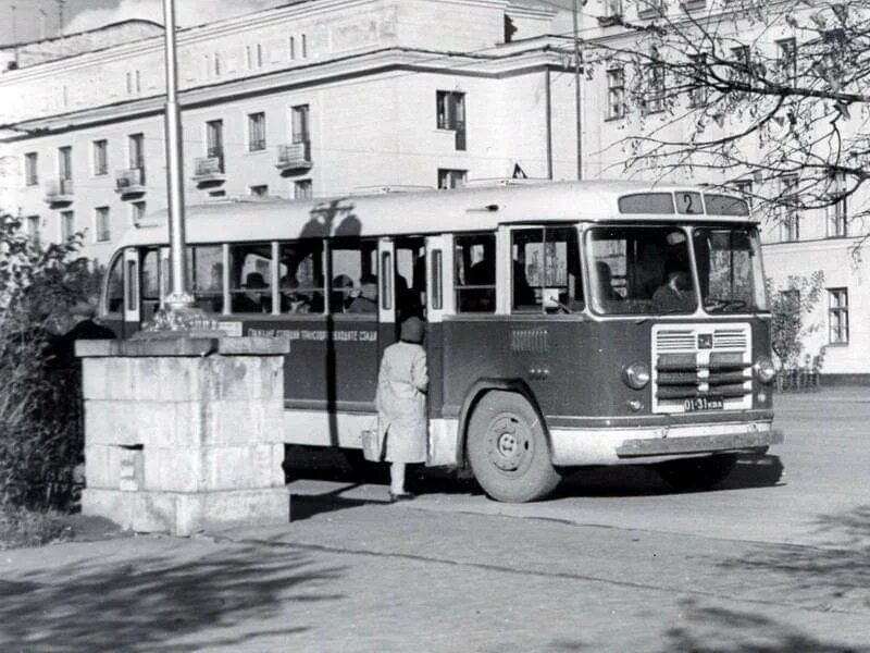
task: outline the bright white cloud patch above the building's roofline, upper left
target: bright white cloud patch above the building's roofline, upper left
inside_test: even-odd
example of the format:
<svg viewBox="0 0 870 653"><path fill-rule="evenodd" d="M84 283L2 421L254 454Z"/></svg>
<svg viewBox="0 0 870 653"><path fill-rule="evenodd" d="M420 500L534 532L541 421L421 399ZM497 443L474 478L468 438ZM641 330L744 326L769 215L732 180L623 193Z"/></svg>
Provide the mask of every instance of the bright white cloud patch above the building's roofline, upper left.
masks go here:
<svg viewBox="0 0 870 653"><path fill-rule="evenodd" d="M175 22L179 27L189 27L278 4L287 4L287 0L176 0ZM85 32L132 19L162 24L162 0L121 0L114 8L86 9L72 17L64 33Z"/></svg>

